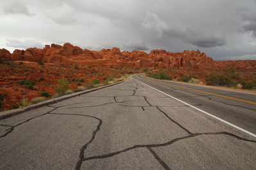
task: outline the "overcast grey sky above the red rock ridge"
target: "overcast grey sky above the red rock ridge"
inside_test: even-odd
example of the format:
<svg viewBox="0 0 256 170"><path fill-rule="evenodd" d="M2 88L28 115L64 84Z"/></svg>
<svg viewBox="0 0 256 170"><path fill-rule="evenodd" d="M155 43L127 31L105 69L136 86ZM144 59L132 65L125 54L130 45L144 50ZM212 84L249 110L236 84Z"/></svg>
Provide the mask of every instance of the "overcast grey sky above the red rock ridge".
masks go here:
<svg viewBox="0 0 256 170"><path fill-rule="evenodd" d="M197 50L256 59L256 0L1 0L0 48Z"/></svg>

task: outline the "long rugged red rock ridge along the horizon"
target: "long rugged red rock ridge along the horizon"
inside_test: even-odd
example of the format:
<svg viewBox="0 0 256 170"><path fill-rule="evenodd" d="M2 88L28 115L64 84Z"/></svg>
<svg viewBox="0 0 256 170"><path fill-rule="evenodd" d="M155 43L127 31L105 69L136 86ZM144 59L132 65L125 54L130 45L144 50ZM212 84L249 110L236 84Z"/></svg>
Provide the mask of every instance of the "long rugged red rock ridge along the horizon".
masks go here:
<svg viewBox="0 0 256 170"><path fill-rule="evenodd" d="M197 51L166 52L151 50L121 52L119 48L102 49L99 52L82 49L65 43L63 46L45 45L43 49L28 48L13 53L0 49L0 59L48 62L53 64L83 64L85 66L157 67L164 69L249 69L256 71L256 60L214 61L205 53Z"/></svg>

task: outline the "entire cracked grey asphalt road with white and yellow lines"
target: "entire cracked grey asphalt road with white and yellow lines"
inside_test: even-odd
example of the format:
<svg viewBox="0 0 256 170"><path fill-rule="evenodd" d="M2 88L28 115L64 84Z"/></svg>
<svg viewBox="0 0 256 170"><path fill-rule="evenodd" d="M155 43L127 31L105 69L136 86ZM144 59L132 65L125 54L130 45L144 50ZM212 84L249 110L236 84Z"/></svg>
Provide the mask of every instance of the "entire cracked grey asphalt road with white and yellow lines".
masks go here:
<svg viewBox="0 0 256 170"><path fill-rule="evenodd" d="M0 169L256 169L256 96L132 76L0 121Z"/></svg>

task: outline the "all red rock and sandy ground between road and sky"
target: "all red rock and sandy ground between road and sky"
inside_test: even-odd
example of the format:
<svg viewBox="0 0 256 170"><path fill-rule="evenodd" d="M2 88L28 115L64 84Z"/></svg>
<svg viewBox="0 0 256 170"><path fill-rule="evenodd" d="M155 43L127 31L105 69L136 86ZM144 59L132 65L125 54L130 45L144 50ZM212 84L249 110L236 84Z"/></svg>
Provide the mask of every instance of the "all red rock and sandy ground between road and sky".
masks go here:
<svg viewBox="0 0 256 170"><path fill-rule="evenodd" d="M81 82L83 85L93 79L102 81L104 76L111 74L120 76L147 70L164 70L176 80L183 75L194 75L203 83L206 76L214 72L223 73L223 69L234 69L243 80L256 79L256 60L214 61L199 50L151 50L146 53L136 50L121 52L119 48L114 47L97 52L65 43L63 46L45 45L43 49L14 50L13 53L3 48L0 49L0 62L3 60L8 62L0 63L0 94L5 96L0 111L10 109L13 104L19 103L22 97L28 97L30 100L40 96L43 91L54 95L58 80L63 77L71 82L71 89L77 88L77 82L72 81L77 78L84 78L85 82ZM40 77L45 80L38 81ZM17 83L20 80L35 81L37 90L20 87Z"/></svg>

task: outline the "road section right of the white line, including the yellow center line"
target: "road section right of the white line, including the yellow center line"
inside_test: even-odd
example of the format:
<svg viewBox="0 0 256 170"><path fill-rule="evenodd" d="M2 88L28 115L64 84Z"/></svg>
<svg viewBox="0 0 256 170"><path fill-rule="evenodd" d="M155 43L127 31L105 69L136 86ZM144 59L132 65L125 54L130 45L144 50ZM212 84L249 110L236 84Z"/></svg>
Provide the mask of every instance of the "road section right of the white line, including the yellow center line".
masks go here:
<svg viewBox="0 0 256 170"><path fill-rule="evenodd" d="M256 134L256 94L153 80L142 75L135 75L133 78Z"/></svg>

